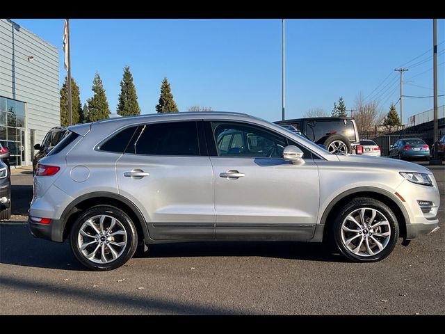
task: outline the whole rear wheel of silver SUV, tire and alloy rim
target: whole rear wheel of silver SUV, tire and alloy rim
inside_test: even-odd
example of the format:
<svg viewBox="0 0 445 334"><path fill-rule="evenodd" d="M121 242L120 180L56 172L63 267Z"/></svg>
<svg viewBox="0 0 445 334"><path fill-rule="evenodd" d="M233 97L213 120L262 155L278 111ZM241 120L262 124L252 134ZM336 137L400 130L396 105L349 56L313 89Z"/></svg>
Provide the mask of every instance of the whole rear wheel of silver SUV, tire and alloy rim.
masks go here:
<svg viewBox="0 0 445 334"><path fill-rule="evenodd" d="M111 231L109 236L107 230ZM86 210L76 219L70 244L81 264L94 271L106 271L121 267L133 256L138 246L138 234L125 212L101 205Z"/></svg>

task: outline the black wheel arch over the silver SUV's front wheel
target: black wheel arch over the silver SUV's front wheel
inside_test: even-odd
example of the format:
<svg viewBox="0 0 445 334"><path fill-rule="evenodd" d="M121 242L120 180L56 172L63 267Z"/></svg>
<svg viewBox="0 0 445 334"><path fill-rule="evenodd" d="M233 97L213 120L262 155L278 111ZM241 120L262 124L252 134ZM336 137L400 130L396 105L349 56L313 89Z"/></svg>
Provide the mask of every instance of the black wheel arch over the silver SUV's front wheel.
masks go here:
<svg viewBox="0 0 445 334"><path fill-rule="evenodd" d="M337 209L340 209L343 207L343 205L346 205L346 203L353 198L358 197L373 198L385 203L385 205L387 205L396 215L398 226L400 228L400 237L406 239L406 225L410 223L410 216L408 216L405 207L403 207L403 204L396 197L396 195L384 189L375 188L373 186L361 186L341 193L335 197L329 205L327 205L320 220L320 224L324 225L323 242L329 239L328 234L330 233L330 224L332 224L334 221L333 217L337 212Z"/></svg>

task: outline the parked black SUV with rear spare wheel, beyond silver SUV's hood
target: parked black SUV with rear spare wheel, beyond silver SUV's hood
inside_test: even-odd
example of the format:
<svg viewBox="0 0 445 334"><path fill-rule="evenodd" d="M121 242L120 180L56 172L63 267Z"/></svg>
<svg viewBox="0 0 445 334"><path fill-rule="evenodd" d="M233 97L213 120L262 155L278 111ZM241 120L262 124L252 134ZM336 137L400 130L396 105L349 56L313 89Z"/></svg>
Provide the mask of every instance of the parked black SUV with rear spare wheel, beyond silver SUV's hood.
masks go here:
<svg viewBox="0 0 445 334"><path fill-rule="evenodd" d="M309 140L325 145L332 153L355 153L360 145L357 125L351 117L296 118L275 123L300 129Z"/></svg>

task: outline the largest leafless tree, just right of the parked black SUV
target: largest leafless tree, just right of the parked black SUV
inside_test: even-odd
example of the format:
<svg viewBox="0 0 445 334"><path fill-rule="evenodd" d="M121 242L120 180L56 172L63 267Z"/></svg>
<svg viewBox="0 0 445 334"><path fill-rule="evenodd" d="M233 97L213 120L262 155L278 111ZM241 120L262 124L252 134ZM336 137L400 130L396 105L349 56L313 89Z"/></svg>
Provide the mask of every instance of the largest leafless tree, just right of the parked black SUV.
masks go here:
<svg viewBox="0 0 445 334"><path fill-rule="evenodd" d="M379 110L378 101L366 102L362 93L355 97L355 122L357 130L365 132L373 129L376 125L381 125L385 119L385 113Z"/></svg>

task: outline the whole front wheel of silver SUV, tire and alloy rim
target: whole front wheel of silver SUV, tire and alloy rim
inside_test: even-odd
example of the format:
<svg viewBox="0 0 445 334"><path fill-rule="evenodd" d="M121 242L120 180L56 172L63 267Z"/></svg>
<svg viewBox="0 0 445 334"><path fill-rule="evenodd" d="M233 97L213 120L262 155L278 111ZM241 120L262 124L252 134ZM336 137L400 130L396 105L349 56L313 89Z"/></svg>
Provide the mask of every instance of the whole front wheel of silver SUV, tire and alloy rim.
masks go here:
<svg viewBox="0 0 445 334"><path fill-rule="evenodd" d="M369 228L366 224L374 212L375 223L371 226L380 224ZM361 218L362 213L365 223ZM348 218L351 216L355 221ZM394 250L399 227L394 212L384 203L373 198L355 198L341 208L332 232L334 244L348 259L353 262L376 262Z"/></svg>

